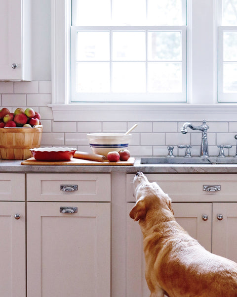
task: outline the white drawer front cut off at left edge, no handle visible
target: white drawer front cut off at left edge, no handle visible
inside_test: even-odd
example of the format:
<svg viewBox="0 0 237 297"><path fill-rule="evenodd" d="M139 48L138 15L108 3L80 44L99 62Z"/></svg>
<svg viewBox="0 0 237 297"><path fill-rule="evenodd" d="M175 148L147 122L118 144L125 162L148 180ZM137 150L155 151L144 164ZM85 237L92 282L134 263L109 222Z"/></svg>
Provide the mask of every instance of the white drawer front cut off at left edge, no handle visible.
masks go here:
<svg viewBox="0 0 237 297"><path fill-rule="evenodd" d="M25 174L0 173L0 200L25 201Z"/></svg>

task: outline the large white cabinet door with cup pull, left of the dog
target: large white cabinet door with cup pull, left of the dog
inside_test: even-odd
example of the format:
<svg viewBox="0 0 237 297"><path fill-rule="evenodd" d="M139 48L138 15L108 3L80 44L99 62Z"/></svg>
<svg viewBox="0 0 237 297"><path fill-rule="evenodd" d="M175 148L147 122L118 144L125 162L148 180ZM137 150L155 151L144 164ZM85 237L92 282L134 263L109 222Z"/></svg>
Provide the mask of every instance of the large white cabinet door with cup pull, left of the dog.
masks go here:
<svg viewBox="0 0 237 297"><path fill-rule="evenodd" d="M110 213L107 202L27 202L28 297L110 296Z"/></svg>

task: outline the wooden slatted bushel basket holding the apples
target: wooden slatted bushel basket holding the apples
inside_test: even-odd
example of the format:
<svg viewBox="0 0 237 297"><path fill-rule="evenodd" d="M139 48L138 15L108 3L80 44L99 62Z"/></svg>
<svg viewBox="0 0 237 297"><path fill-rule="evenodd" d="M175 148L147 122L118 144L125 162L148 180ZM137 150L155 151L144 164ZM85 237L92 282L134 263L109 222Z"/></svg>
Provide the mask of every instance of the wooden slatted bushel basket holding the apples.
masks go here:
<svg viewBox="0 0 237 297"><path fill-rule="evenodd" d="M39 148L43 128L0 128L0 158L26 160L32 156L30 148Z"/></svg>

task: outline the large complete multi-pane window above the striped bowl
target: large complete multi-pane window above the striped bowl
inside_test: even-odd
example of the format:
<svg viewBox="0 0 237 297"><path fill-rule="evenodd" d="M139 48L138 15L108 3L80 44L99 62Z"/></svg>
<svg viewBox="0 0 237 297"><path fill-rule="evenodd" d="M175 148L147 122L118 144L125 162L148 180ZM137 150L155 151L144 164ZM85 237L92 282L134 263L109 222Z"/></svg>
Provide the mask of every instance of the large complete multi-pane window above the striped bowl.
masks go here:
<svg viewBox="0 0 237 297"><path fill-rule="evenodd" d="M72 102L186 102L186 0L73 0Z"/></svg>

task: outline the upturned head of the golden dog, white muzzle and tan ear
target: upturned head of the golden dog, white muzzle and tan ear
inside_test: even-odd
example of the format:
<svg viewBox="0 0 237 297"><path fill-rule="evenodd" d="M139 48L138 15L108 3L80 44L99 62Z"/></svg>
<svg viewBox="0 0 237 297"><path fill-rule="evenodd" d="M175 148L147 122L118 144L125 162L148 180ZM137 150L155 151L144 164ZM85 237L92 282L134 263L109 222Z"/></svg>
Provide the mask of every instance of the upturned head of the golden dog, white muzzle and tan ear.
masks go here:
<svg viewBox="0 0 237 297"><path fill-rule="evenodd" d="M148 211L156 212L156 216L173 218L171 199L157 183L150 183L142 172L137 172L133 180L136 204L129 215L135 221L145 219Z"/></svg>

